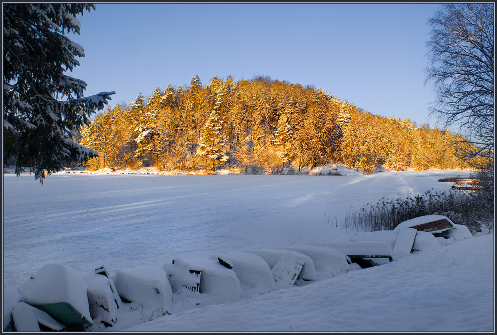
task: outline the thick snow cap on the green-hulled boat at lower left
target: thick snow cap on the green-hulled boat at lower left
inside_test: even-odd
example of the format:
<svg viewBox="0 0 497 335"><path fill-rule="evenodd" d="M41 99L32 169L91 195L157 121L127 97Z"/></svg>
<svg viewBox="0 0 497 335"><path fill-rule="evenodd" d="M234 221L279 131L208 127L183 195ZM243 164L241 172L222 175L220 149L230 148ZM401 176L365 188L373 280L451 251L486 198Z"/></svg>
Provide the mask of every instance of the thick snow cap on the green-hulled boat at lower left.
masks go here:
<svg viewBox="0 0 497 335"><path fill-rule="evenodd" d="M83 276L66 265L43 266L19 288L19 293L21 301L41 309L44 305L67 303L81 315L83 321L93 322ZM54 318L57 319L56 316Z"/></svg>

